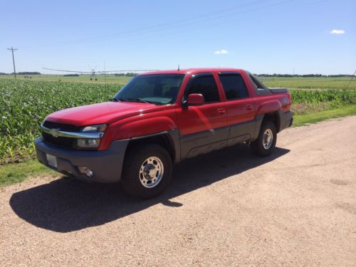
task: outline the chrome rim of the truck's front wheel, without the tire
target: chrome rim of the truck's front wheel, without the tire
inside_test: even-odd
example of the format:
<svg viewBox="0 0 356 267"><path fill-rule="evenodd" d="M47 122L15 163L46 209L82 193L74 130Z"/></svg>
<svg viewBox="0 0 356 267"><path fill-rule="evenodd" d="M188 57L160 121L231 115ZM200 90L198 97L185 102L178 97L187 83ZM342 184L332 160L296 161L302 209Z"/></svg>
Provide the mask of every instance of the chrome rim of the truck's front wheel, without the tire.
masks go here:
<svg viewBox="0 0 356 267"><path fill-rule="evenodd" d="M140 182L144 187L156 187L161 182L164 174L164 167L158 157L149 157L142 162L140 167Z"/></svg>

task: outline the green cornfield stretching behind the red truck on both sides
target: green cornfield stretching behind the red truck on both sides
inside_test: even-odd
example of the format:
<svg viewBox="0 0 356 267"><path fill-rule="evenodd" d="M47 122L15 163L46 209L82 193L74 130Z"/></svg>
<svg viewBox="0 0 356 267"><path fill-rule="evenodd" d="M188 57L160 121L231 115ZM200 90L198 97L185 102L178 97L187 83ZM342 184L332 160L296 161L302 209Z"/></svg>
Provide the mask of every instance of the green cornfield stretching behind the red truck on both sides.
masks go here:
<svg viewBox="0 0 356 267"><path fill-rule="evenodd" d="M281 84L280 86L283 86ZM39 125L56 110L110 100L114 83L0 80L0 164L34 157ZM356 90L291 90L293 103L355 104Z"/></svg>

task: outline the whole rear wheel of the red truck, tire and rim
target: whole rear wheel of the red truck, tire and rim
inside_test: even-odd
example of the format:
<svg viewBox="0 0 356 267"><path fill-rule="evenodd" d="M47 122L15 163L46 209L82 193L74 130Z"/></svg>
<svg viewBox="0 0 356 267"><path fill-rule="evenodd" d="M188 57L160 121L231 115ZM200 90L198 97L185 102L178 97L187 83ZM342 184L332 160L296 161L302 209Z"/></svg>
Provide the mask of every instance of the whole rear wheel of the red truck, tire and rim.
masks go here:
<svg viewBox="0 0 356 267"><path fill-rule="evenodd" d="M254 154L266 157L272 154L277 142L276 125L271 121L263 122L260 132L255 141L251 142L250 147Z"/></svg>

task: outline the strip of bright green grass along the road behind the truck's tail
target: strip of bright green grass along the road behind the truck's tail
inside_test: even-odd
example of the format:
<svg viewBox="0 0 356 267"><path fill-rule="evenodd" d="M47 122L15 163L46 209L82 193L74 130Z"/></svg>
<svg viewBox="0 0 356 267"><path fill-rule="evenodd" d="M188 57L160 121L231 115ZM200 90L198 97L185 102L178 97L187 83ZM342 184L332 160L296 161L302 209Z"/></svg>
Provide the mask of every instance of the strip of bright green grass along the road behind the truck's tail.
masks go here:
<svg viewBox="0 0 356 267"><path fill-rule="evenodd" d="M356 115L356 105L347 105L333 110L322 110L309 114L300 114L294 116L293 125L301 126L308 123L321 122L335 117L345 117L349 115Z"/></svg>

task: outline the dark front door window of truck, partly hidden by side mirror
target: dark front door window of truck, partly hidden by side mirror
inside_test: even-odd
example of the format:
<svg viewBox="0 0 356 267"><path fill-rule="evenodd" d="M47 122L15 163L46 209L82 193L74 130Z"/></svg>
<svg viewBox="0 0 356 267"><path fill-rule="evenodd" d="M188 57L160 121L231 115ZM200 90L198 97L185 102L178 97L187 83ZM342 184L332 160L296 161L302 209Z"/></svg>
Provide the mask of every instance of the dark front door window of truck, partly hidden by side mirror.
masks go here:
<svg viewBox="0 0 356 267"><path fill-rule="evenodd" d="M205 103L219 102L219 91L213 75L204 75L192 78L187 95L198 93L204 96Z"/></svg>

